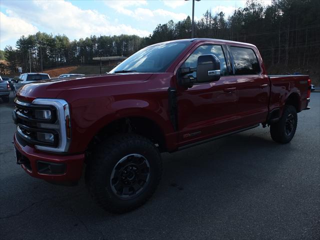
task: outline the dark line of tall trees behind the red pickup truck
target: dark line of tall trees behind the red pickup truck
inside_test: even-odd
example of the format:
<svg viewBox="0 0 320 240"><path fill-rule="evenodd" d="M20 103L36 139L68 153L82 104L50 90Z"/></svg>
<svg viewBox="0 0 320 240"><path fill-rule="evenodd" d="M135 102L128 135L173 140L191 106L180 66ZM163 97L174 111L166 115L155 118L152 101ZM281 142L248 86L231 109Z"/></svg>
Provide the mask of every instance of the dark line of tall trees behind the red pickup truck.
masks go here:
<svg viewBox="0 0 320 240"><path fill-rule="evenodd" d="M320 1L272 0L264 6L247 0L245 7L225 17L221 11L207 10L194 23L194 36L244 41L256 45L267 67L300 66L303 69L320 63ZM191 19L158 24L147 37L121 34L90 36L70 40L66 35L37 32L21 36L15 48L6 46L4 55L12 72L74 64L92 63L92 57L129 56L140 48L167 40L190 38Z"/></svg>

